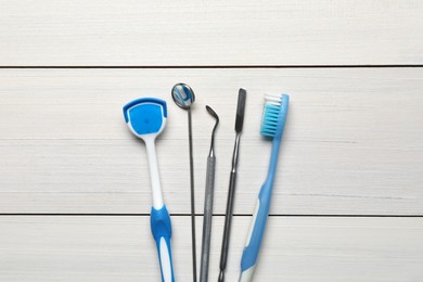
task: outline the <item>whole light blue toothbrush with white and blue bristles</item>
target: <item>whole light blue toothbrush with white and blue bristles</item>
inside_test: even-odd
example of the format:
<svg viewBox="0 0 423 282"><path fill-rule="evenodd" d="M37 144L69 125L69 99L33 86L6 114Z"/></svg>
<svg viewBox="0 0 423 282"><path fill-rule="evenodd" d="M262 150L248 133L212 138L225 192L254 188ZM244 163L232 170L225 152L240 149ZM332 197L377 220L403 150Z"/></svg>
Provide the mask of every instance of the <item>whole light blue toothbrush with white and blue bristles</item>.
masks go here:
<svg viewBox="0 0 423 282"><path fill-rule="evenodd" d="M272 138L272 150L269 164L269 171L265 183L258 194L256 209L249 227L248 236L241 259L241 275L239 282L249 282L253 280L254 270L257 266L257 257L265 233L266 221L269 214L270 200L274 175L277 171L279 149L285 127L287 104L290 97L265 95L265 108L261 119L260 134Z"/></svg>

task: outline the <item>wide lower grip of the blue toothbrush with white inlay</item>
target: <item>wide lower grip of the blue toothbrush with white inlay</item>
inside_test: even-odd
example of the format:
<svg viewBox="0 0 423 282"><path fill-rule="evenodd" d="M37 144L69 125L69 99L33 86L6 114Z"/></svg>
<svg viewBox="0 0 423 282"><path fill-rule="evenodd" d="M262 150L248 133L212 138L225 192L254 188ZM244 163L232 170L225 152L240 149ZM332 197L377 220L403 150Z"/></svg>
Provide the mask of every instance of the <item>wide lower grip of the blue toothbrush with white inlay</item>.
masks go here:
<svg viewBox="0 0 423 282"><path fill-rule="evenodd" d="M261 187L260 194L258 195L253 221L249 227L247 241L241 258L241 275L239 282L249 282L253 280L269 215L271 187L271 181L266 181Z"/></svg>

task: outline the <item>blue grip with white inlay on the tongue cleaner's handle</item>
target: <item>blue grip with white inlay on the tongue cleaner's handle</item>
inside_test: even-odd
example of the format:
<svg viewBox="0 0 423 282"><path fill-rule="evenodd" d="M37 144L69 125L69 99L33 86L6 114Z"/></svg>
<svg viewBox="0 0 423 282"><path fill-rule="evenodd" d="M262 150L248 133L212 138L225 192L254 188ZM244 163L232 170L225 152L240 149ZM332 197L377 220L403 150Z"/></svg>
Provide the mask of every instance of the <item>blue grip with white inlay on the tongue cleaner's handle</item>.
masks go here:
<svg viewBox="0 0 423 282"><path fill-rule="evenodd" d="M171 225L170 216L164 205L161 209L151 209L151 231L157 245L158 261L163 282L175 282L174 264L171 260Z"/></svg>

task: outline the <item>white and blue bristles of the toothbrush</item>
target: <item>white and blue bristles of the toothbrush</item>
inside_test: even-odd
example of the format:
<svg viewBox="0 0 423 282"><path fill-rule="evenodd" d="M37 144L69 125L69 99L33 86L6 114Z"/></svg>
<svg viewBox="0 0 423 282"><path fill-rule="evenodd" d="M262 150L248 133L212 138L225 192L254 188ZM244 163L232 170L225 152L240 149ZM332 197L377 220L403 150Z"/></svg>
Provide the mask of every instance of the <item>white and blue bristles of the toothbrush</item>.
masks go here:
<svg viewBox="0 0 423 282"><path fill-rule="evenodd" d="M279 115L281 113L282 94L265 95L260 134L273 138L277 133Z"/></svg>

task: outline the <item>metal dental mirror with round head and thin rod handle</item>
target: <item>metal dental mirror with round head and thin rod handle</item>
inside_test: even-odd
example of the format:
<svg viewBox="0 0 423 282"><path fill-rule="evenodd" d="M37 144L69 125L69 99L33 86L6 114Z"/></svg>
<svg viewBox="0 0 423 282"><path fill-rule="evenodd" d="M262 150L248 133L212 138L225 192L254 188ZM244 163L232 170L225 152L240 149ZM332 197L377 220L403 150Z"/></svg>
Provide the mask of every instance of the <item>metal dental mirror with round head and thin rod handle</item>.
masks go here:
<svg viewBox="0 0 423 282"><path fill-rule="evenodd" d="M191 184L191 236L192 236L192 271L193 281L196 282L196 246L195 246L195 196L194 196L194 162L192 150L191 105L195 101L194 91L185 84L177 84L171 89L175 103L188 111L188 136L190 142L190 184Z"/></svg>

